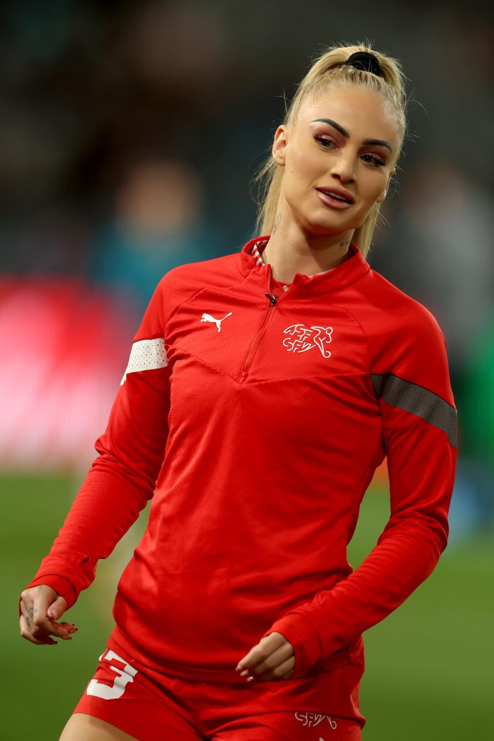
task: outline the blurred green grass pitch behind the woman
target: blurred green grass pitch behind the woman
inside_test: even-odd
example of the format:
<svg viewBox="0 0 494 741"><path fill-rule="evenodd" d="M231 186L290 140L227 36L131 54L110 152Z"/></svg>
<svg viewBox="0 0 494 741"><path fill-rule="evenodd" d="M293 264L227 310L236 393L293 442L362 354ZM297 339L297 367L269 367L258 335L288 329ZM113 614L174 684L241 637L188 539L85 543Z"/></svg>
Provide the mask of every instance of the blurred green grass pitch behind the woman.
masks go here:
<svg viewBox="0 0 494 741"><path fill-rule="evenodd" d="M19 595L50 550L81 480L11 474L0 476L0 485L7 605L1 613L0 738L56 741L104 651L116 584L144 532L148 508L110 558L99 562L95 582L65 614L79 627L73 640L39 646L20 637ZM375 545L388 515L389 493L373 483L349 548L354 567ZM489 737L493 565L487 536L449 546L430 578L364 635L365 741Z"/></svg>

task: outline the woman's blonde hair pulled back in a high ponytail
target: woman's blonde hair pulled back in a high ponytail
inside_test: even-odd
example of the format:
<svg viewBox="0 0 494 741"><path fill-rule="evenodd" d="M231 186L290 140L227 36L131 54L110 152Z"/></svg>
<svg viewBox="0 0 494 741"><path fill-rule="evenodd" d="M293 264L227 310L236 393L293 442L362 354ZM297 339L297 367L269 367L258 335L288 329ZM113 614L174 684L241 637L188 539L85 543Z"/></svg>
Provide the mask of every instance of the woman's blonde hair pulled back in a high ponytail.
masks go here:
<svg viewBox="0 0 494 741"><path fill-rule="evenodd" d="M350 64L341 66L342 62L347 61L350 54L358 51L367 51L377 57L381 67L381 76L378 77L373 73L358 70ZM407 132L405 79L407 78L404 76L398 60L373 50L369 44L354 44L353 46L340 44L327 47L310 67L304 79L298 84L289 108L287 108L285 99L284 124L291 126L298 118L301 105L307 99L316 99L319 95L326 93L327 90L341 89L350 85L360 85L361 87L367 87L369 90L376 90L390 102L395 110L398 127L398 150L395 154L395 163L397 163ZM272 144L270 144L270 149L272 149ZM397 170L401 169L396 164L395 167ZM264 162L264 165L261 165L253 179L253 182L262 183L266 176L262 202L256 200L258 213L252 239L256 236L265 236L272 233L284 169L282 165L278 165L270 153L267 161ZM352 242L358 246L364 258L367 258L370 251L380 206L380 203L374 203L364 222L353 233Z"/></svg>

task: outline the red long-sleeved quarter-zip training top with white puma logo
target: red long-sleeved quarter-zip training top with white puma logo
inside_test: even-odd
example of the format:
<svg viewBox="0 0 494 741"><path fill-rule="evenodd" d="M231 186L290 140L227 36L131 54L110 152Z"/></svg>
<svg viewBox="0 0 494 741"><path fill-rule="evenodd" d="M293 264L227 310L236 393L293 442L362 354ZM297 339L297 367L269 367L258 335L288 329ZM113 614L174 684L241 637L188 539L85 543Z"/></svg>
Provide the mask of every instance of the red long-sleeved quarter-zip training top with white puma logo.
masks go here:
<svg viewBox="0 0 494 741"><path fill-rule="evenodd" d="M119 582L115 650L178 677L245 683L238 660L278 631L293 678L307 678L305 709L364 720L362 631L447 543L457 413L446 342L353 243L336 268L296 273L283 290L256 250L267 239L158 283L99 456L29 586L71 607L153 498ZM347 543L384 456L390 519L353 571Z"/></svg>

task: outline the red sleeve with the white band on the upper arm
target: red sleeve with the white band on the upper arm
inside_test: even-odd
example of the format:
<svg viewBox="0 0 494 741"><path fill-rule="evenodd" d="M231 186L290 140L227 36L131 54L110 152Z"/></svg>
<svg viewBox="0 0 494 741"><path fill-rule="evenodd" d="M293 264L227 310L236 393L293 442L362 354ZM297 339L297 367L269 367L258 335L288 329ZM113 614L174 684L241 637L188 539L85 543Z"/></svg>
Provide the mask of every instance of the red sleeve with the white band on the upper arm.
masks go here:
<svg viewBox="0 0 494 741"><path fill-rule="evenodd" d="M99 453L64 525L27 587L47 584L72 607L119 539L151 499L164 459L170 369L164 349L164 281L158 283L133 339ZM20 602L20 600L19 600ZM20 615L19 607L19 615Z"/></svg>

